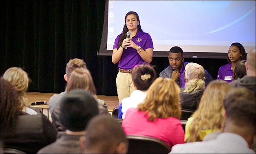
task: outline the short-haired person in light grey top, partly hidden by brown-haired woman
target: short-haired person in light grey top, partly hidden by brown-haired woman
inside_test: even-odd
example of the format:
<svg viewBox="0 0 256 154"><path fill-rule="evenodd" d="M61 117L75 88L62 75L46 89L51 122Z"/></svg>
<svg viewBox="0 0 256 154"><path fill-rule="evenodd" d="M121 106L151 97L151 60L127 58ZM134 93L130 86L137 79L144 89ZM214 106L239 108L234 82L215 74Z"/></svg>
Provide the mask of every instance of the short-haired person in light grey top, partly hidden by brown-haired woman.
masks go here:
<svg viewBox="0 0 256 154"><path fill-rule="evenodd" d="M66 82L69 81L71 72L76 68L87 68L86 63L83 61L83 59L74 58L74 59L69 60L69 62L66 65L66 73L64 74L64 79ZM65 90L65 92L61 92L59 94L54 94L54 95L52 95L52 97L50 97L49 110L50 110L51 114L52 114L54 108L57 106L57 104L59 104L61 97L66 94L66 92L67 92L66 90Z"/></svg>

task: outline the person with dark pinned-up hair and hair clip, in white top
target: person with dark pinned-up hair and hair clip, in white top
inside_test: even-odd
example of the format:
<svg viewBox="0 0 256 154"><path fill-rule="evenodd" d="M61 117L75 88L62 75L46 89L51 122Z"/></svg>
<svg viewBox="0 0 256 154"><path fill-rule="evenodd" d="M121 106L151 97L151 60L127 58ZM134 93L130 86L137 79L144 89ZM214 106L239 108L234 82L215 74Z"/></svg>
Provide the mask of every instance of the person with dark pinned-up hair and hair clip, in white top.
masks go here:
<svg viewBox="0 0 256 154"><path fill-rule="evenodd" d="M150 66L150 64L143 63L140 65L136 65L133 68L132 82L135 91L132 92L130 97L122 99L121 103L119 103L119 108L121 108L121 112L118 112L118 118L124 119L128 108L136 108L139 103L143 102L149 86L156 78L157 75L156 71L154 70L154 66Z"/></svg>

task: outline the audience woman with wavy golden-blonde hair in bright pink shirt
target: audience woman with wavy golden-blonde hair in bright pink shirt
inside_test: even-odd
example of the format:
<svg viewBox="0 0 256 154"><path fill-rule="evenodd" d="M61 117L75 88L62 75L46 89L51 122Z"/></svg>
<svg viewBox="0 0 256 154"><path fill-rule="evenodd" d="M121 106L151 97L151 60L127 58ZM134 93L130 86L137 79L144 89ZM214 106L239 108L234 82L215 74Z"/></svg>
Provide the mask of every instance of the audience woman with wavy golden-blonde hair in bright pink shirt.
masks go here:
<svg viewBox="0 0 256 154"><path fill-rule="evenodd" d="M179 94L180 87L173 79L158 77L148 88L144 102L127 110L122 121L126 135L151 136L169 147L184 143Z"/></svg>

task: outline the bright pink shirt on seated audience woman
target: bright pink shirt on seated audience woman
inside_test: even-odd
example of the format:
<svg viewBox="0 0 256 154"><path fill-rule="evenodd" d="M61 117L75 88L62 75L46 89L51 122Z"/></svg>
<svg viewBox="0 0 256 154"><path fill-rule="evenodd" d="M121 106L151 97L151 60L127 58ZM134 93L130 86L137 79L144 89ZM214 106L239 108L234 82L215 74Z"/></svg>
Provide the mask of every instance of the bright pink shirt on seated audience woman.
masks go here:
<svg viewBox="0 0 256 154"><path fill-rule="evenodd" d="M156 121L148 121L143 113L136 108L129 108L122 121L122 128L126 135L144 135L161 139L173 147L178 143L184 143L184 130L179 119L167 117L157 118Z"/></svg>

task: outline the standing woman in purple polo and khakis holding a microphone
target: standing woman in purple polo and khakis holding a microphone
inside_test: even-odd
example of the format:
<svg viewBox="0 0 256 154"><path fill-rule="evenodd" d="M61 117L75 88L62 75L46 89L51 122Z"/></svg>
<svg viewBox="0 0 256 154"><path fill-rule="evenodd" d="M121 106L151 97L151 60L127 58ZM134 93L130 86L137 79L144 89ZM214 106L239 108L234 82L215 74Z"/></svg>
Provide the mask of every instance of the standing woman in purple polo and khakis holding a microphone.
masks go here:
<svg viewBox="0 0 256 154"><path fill-rule="evenodd" d="M152 38L141 29L139 15L136 12L126 13L124 21L123 31L115 39L112 53L112 62L119 62L116 78L119 103L135 90L132 85L132 68L143 62L150 63L154 49Z"/></svg>

